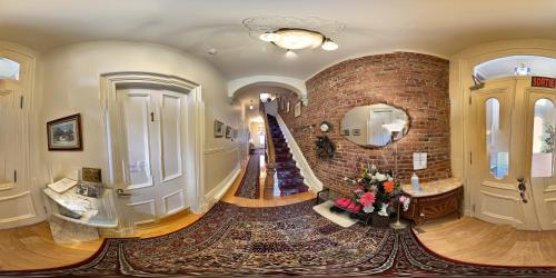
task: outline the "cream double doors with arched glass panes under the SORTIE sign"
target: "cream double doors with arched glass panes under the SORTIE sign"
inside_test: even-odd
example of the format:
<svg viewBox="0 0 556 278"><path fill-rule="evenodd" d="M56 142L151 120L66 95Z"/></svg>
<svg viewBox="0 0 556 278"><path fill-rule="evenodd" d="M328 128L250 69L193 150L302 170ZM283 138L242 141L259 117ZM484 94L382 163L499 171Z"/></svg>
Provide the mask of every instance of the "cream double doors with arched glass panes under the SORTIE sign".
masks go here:
<svg viewBox="0 0 556 278"><path fill-rule="evenodd" d="M556 229L556 89L546 87L514 76L471 91L471 210L479 219Z"/></svg>

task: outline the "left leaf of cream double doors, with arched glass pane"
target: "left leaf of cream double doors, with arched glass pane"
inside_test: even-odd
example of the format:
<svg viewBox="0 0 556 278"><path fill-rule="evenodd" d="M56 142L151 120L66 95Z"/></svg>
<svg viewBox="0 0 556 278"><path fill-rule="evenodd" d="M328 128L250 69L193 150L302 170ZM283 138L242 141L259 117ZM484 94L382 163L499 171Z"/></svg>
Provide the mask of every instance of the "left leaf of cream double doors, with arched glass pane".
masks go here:
<svg viewBox="0 0 556 278"><path fill-rule="evenodd" d="M487 81L471 91L471 210L485 221L507 224L518 229L538 229L530 190L519 181L529 178L525 151L526 79Z"/></svg>

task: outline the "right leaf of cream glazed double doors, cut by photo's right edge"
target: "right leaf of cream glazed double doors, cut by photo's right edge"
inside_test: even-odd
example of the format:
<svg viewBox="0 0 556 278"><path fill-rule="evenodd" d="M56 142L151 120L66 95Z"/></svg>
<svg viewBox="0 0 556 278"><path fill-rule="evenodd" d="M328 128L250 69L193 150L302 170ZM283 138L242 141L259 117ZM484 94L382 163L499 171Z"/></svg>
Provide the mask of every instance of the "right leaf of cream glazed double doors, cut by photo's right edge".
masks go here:
<svg viewBox="0 0 556 278"><path fill-rule="evenodd" d="M530 190L543 230L556 229L555 127L556 90L528 88L527 156Z"/></svg>

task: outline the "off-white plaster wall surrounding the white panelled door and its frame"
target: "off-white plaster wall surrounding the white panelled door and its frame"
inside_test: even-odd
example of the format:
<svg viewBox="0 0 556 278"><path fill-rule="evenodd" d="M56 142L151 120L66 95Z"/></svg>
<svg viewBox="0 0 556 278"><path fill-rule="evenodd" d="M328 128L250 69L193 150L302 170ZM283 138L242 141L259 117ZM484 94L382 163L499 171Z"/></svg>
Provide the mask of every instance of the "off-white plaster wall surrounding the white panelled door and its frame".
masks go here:
<svg viewBox="0 0 556 278"><path fill-rule="evenodd" d="M73 113L81 113L83 131L83 151L48 151L46 136L40 137L42 180L48 177L49 167L54 178L81 167L97 167L102 169L103 180L108 180L99 77L121 71L171 75L201 85L206 118L205 193L237 169L239 138L216 139L212 125L218 119L238 128L240 112L229 105L226 80L209 62L165 46L120 41L66 46L42 58L43 87L36 101L41 106L39 135L47 133L47 121Z"/></svg>

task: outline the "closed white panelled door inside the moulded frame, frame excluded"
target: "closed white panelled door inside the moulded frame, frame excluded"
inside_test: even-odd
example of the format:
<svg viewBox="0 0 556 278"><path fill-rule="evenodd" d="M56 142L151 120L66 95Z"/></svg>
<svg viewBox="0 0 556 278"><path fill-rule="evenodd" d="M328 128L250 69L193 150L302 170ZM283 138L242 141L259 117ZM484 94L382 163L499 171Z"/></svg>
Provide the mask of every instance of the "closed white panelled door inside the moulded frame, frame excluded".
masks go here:
<svg viewBox="0 0 556 278"><path fill-rule="evenodd" d="M152 222L186 208L187 95L160 89L117 91L123 222Z"/></svg>

